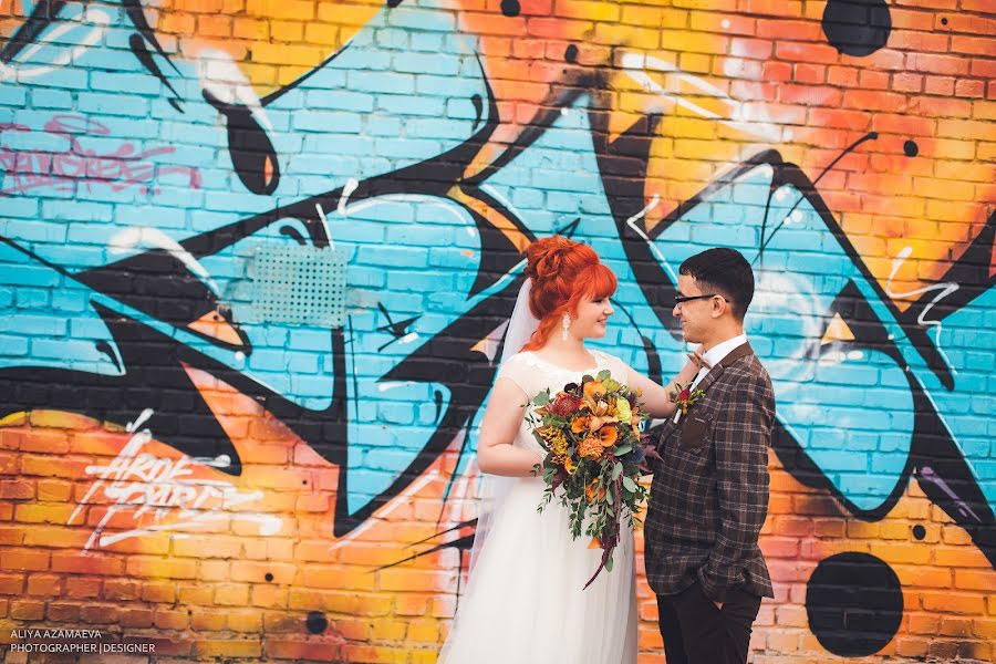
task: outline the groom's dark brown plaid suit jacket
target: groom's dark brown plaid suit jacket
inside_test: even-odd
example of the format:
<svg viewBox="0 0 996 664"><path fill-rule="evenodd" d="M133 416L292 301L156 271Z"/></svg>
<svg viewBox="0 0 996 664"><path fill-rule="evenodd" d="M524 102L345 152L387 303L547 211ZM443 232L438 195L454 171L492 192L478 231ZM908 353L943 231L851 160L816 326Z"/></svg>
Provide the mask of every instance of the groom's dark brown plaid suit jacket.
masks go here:
<svg viewBox="0 0 996 664"><path fill-rule="evenodd" d="M699 382L705 396L657 443L644 525L646 578L657 594L696 580L717 602L732 588L774 596L757 544L768 512L775 393L749 344Z"/></svg>

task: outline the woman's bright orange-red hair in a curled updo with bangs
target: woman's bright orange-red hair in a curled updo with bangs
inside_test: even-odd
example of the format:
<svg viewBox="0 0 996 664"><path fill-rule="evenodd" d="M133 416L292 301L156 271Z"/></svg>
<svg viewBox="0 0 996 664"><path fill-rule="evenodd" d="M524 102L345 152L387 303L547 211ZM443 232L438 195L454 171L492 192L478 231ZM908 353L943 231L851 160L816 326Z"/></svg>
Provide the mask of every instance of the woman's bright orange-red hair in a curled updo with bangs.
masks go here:
<svg viewBox="0 0 996 664"><path fill-rule="evenodd" d="M543 238L529 246L526 260L526 276L532 280L529 310L539 326L523 351L546 345L563 314L573 314L585 298L599 300L615 292L615 273L583 242L561 236Z"/></svg>

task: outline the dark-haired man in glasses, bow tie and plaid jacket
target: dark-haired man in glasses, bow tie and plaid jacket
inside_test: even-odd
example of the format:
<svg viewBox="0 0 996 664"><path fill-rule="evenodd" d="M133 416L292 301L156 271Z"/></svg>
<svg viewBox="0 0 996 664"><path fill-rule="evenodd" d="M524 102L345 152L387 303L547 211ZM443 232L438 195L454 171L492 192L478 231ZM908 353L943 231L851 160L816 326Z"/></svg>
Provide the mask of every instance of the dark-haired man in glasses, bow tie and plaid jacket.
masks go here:
<svg viewBox="0 0 996 664"><path fill-rule="evenodd" d="M712 369L693 383L704 395L661 435L644 529L646 578L657 593L667 664L744 664L761 598L774 596L757 537L768 511L775 395L744 335L754 298L744 257L709 249L678 272L672 313Z"/></svg>

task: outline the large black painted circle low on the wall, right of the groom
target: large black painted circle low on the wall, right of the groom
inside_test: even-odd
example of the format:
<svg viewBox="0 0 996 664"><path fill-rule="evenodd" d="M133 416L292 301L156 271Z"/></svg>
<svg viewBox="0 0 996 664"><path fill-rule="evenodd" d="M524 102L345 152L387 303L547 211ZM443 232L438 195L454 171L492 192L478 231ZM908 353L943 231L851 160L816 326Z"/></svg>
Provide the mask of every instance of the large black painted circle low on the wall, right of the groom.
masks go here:
<svg viewBox="0 0 996 664"><path fill-rule="evenodd" d="M838 553L820 562L806 587L809 629L841 657L882 650L903 619L903 589L892 568L868 553Z"/></svg>

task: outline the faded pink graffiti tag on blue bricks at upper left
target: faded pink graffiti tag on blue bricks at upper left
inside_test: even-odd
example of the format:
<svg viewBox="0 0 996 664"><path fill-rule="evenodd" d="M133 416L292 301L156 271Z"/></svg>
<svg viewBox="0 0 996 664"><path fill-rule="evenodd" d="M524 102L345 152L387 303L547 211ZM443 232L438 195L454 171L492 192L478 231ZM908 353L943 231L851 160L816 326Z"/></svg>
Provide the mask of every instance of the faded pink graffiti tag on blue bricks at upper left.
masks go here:
<svg viewBox="0 0 996 664"><path fill-rule="evenodd" d="M0 137L8 133L31 131L21 124L0 123ZM0 195L22 195L41 187L72 191L77 181L84 184L87 191L92 191L95 185L110 187L114 191L141 186L141 191L147 194L157 177L169 174L184 175L188 178L188 186L200 188L200 172L197 168L159 165L149 160L175 153L173 146L137 152L134 144L122 143L113 153L97 154L83 147L79 136L107 136L111 129L82 115L54 115L45 123L44 133L68 138L69 147L62 152L22 151L0 144L0 169L6 176Z"/></svg>

